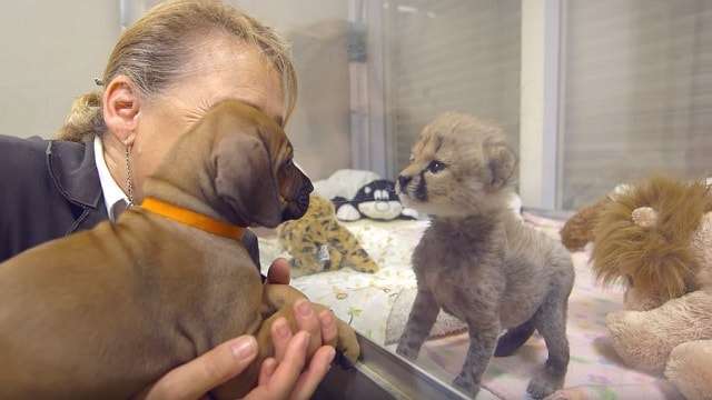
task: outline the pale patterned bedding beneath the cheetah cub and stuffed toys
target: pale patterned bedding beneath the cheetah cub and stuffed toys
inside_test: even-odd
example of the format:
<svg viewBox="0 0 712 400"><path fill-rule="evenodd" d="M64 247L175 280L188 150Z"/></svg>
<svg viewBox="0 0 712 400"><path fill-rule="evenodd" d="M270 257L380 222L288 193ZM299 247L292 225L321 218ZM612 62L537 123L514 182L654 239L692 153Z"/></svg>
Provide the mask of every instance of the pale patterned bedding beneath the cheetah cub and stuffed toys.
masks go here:
<svg viewBox="0 0 712 400"><path fill-rule="evenodd" d="M528 223L557 238L563 222L523 213ZM380 270L374 274L350 269L317 273L293 280L313 301L328 304L336 316L359 333L395 351L397 340L415 298L415 276L411 253L428 222L359 220L344 223L360 241ZM276 238L260 238L261 264L289 256ZM620 288L603 289L589 267L590 251L572 254L576 281L570 298L567 336L571 363L562 399L682 399L662 378L625 367L606 337L605 314L622 308ZM266 271L265 271L266 273ZM465 327L441 312L431 339L417 363L451 381L459 372L468 339ZM541 337L534 336L513 357L493 359L483 378L483 388L502 399L521 399L537 366L546 358Z"/></svg>

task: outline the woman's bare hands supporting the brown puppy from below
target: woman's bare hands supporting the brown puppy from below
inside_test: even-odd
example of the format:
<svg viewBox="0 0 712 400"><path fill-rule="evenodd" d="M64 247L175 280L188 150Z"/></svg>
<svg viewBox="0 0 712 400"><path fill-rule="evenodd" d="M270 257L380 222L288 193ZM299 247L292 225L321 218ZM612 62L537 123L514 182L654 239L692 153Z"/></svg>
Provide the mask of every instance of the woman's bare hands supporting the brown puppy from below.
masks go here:
<svg viewBox="0 0 712 400"><path fill-rule="evenodd" d="M269 267L267 281L289 283L289 264L277 259ZM318 316L308 301L295 303L299 332L294 334L286 320L271 327L275 357L263 362L258 386L247 399L308 399L326 376L335 350L336 320L330 311ZM149 400L204 398L207 392L240 374L257 354L257 341L243 336L219 344L199 358L164 376L140 396ZM309 358L309 356L312 356Z"/></svg>

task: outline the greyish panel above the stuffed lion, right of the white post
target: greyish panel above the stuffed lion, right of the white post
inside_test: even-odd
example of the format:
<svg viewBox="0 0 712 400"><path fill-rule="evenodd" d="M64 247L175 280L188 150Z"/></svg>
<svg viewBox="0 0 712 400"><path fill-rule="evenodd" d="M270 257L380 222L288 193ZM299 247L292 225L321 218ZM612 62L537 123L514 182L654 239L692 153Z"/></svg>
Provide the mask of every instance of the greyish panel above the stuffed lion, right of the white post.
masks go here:
<svg viewBox="0 0 712 400"><path fill-rule="evenodd" d="M653 171L710 176L712 3L566 4L563 208Z"/></svg>

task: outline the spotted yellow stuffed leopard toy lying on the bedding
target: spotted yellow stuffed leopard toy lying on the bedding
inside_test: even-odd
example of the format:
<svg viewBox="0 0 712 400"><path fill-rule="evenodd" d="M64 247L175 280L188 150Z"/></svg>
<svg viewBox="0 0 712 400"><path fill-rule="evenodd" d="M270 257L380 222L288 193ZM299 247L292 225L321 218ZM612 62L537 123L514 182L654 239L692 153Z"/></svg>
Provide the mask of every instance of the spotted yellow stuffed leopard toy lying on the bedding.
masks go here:
<svg viewBox="0 0 712 400"><path fill-rule="evenodd" d="M310 196L301 219L277 228L279 242L293 257L295 276L334 271L350 267L360 272L376 272L378 266L358 240L336 219L330 201Z"/></svg>

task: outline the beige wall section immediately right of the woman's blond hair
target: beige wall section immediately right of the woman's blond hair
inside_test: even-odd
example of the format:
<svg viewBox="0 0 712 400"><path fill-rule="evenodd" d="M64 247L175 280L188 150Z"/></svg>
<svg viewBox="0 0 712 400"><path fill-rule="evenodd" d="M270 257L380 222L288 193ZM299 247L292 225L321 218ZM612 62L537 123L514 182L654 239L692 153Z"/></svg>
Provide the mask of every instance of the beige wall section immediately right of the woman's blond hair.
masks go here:
<svg viewBox="0 0 712 400"><path fill-rule="evenodd" d="M348 1L233 0L230 3L275 27L293 46L299 98L287 133L298 162L313 179L348 168Z"/></svg>

